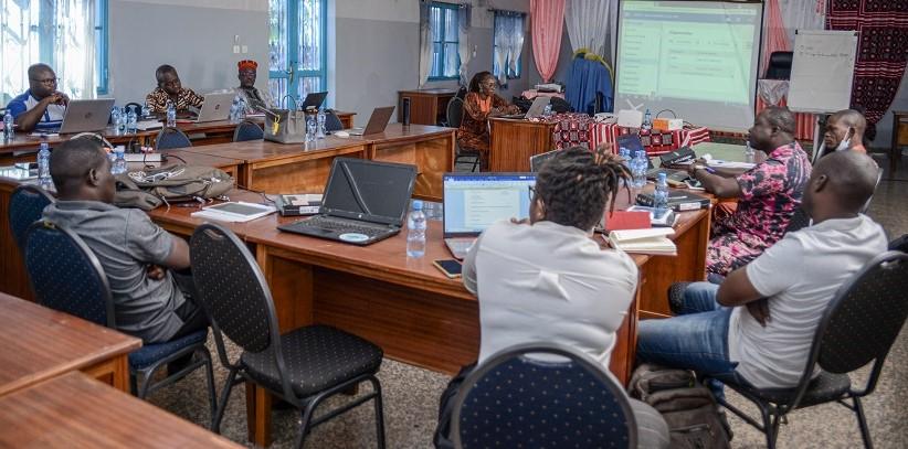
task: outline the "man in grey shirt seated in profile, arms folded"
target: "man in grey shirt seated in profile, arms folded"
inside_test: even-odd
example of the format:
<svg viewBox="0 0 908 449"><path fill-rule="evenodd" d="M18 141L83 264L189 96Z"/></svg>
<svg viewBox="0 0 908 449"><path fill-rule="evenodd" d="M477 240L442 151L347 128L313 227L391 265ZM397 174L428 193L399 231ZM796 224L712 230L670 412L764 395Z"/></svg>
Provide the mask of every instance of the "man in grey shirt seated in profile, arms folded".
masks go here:
<svg viewBox="0 0 908 449"><path fill-rule="evenodd" d="M117 329L161 343L208 327L190 300L189 245L154 224L145 212L113 205L110 161L94 139L63 143L51 157L59 201L44 220L76 233L104 267Z"/></svg>

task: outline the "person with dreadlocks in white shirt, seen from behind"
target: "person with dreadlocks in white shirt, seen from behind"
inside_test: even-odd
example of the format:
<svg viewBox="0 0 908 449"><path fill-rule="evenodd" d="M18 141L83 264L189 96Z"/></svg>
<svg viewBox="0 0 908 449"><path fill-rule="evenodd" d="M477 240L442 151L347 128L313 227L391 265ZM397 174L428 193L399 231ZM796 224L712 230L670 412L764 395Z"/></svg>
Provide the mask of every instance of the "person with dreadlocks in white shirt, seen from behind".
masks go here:
<svg viewBox="0 0 908 449"><path fill-rule="evenodd" d="M620 250L602 249L593 226L630 173L608 148L576 147L542 165L526 222L498 222L464 259L464 286L479 301L479 360L522 343L557 343L608 368L615 332L637 287L637 267ZM442 396L436 446L444 447L457 387L475 365L454 377ZM668 446L662 416L631 400L638 447Z"/></svg>

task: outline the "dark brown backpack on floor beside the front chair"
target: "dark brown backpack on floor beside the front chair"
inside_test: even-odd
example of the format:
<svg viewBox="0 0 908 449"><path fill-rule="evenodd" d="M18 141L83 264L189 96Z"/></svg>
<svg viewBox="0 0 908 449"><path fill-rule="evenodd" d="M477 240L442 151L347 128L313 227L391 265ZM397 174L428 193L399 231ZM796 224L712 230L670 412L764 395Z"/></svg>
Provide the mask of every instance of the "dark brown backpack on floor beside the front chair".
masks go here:
<svg viewBox="0 0 908 449"><path fill-rule="evenodd" d="M638 366L631 376L630 394L650 404L668 425L672 448L729 448L728 424L709 388L686 370L653 364Z"/></svg>

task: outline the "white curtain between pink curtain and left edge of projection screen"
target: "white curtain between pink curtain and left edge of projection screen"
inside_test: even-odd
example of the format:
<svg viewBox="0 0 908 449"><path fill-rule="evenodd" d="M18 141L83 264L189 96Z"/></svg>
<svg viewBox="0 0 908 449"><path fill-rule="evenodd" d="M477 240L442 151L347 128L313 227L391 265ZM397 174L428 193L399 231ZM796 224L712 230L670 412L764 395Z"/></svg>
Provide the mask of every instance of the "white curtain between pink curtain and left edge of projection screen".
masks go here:
<svg viewBox="0 0 908 449"><path fill-rule="evenodd" d="M613 29L614 0L568 0L564 4L564 24L568 26L568 38L571 49L577 52L587 49L589 52L605 57L611 54L605 41Z"/></svg>

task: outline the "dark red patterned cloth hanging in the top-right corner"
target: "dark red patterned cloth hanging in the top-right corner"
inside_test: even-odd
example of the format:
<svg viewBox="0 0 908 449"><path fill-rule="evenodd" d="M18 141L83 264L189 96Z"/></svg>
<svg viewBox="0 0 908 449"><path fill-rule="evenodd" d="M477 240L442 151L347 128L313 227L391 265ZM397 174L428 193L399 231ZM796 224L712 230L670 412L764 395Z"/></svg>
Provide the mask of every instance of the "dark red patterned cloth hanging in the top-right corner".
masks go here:
<svg viewBox="0 0 908 449"><path fill-rule="evenodd" d="M826 25L859 33L852 108L875 125L893 104L908 63L908 0L830 0Z"/></svg>

